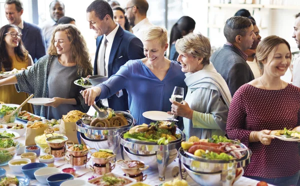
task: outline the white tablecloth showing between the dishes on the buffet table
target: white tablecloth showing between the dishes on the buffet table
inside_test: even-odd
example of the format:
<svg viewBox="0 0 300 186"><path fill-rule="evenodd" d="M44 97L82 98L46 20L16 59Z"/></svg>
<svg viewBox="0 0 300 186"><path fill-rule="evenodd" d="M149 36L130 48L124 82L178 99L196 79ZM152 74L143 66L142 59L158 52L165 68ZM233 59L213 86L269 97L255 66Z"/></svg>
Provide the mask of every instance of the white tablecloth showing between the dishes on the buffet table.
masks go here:
<svg viewBox="0 0 300 186"><path fill-rule="evenodd" d="M25 142L25 135L17 138L17 140L20 143L24 143ZM44 155L44 154L45 154L44 152L42 152L42 151L40 152L40 155ZM20 155L15 156L15 158L20 158ZM120 154L118 154L116 158L117 159L121 159ZM126 154L125 154L125 159L128 159L128 157L126 156ZM38 158L36 159L36 162L38 162ZM66 161L63 160L62 157L61 158L55 158L54 166L58 166L58 165L61 165L63 163L66 163ZM93 175L93 172L88 172L87 174L85 174L85 175L83 175L81 177L76 178L77 175L80 175L80 174L83 174L83 173L89 171L90 169L88 168L88 166L90 164L92 164L91 160L87 162L87 165L86 165L87 168L84 168L84 166L77 166L77 167L75 167L77 169L76 170L75 179L87 180L89 177L91 177ZM176 158L174 160L174 162L172 162L171 164L169 164L167 166L166 172L165 172L165 181L173 180L174 179L174 177L172 177L172 175L171 175L171 170L172 170L172 168L174 166L178 166L178 158ZM70 164L64 164L64 165L60 166L59 169L66 168L66 167L71 167L71 165ZM2 166L2 168L4 168L6 170L6 173L14 174L14 175L19 175L19 176L24 176L24 174L22 174L22 173L21 174L16 174L16 173L12 172L9 169L8 165ZM124 174L118 164L116 164L116 166L112 170L112 172L116 173L116 174ZM159 181L159 179L158 179L158 171L157 170L155 170L155 169L147 169L147 170L144 170L143 173L147 174L147 178L144 181L145 183L147 183L149 185L159 185L159 184L162 183L162 181ZM97 175L95 174L95 176L97 176ZM180 178L180 175L178 175L177 177ZM186 181L191 186L192 185L198 185L189 176L187 176ZM240 177L233 185L234 186L238 186L238 185L243 185L243 186L244 185L254 185L255 186L257 182L258 181L253 180L253 179L249 179L249 178L246 178L246 177ZM46 185L46 184L41 184L41 183L39 183L35 179L30 179L30 184L29 185Z"/></svg>

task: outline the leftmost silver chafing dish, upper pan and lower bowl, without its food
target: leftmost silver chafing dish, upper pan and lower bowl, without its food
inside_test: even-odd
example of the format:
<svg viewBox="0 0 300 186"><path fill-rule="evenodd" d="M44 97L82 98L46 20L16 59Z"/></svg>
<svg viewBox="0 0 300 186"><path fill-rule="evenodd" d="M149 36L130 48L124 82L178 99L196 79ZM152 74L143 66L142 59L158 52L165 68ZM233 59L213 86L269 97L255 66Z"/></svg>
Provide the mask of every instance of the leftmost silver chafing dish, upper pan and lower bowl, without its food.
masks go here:
<svg viewBox="0 0 300 186"><path fill-rule="evenodd" d="M76 121L78 141L82 139L88 146L92 148L107 148L113 150L113 153L116 154L120 144L119 134L124 130L130 129L136 123L136 120L128 112L114 112L122 113L127 119L128 124L118 127L98 127L90 126L89 124L86 124L86 122L82 121L82 119L79 119Z"/></svg>

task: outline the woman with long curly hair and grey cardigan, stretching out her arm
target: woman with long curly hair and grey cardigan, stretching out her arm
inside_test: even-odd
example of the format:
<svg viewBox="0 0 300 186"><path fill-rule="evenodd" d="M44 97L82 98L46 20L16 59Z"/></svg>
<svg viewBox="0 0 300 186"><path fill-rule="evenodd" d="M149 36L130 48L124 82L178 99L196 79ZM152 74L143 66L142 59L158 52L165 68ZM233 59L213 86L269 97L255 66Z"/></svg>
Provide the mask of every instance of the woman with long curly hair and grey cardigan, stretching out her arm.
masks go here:
<svg viewBox="0 0 300 186"><path fill-rule="evenodd" d="M41 57L29 70L1 79L0 86L15 84L16 90L33 93L34 97L49 97L53 102L34 105L37 115L48 119L88 106L73 81L92 73L86 43L72 24L57 25L53 31L48 54Z"/></svg>

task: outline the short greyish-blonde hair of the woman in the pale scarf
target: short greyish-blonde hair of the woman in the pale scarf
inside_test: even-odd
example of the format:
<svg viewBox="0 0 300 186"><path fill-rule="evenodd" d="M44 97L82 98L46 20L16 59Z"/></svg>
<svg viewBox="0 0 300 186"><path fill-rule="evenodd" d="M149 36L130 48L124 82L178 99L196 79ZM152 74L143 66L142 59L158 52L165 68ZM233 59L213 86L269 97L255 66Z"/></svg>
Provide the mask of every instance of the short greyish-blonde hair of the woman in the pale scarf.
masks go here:
<svg viewBox="0 0 300 186"><path fill-rule="evenodd" d="M188 33L176 40L175 48L192 55L193 57L203 58L201 64L209 64L210 42L207 37L201 33Z"/></svg>

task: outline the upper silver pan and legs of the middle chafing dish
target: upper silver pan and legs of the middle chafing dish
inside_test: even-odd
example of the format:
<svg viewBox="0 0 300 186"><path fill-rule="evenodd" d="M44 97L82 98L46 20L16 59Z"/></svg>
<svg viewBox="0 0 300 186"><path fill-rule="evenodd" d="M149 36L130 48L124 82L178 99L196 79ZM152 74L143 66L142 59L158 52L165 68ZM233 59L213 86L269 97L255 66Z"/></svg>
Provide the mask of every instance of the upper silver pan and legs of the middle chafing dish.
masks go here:
<svg viewBox="0 0 300 186"><path fill-rule="evenodd" d="M176 133L181 134L181 139L175 140L170 142L169 144L153 144L153 143L148 143L147 141L142 141L142 140L128 140L128 139L124 139L124 133L126 133L127 131L123 131L122 133L120 133L120 145L121 145L121 156L124 159L124 152L123 152L123 147L128 148L131 151L135 151L138 152L138 154L133 154L135 155L135 157L137 156L144 156L145 153L151 154L153 152L156 152L156 163L157 163L157 167L158 167L158 173L159 173L159 180L163 181L164 180L164 172L166 169L166 166L168 165L168 161L170 158L170 156L172 156L172 150L173 149L178 149L181 146L181 141L185 140L185 134L179 129L176 128ZM129 151L128 150L128 151ZM142 154L144 153L144 154ZM172 153L172 154L171 154ZM154 157L155 157L154 156ZM176 158L176 157L175 157ZM138 160L138 159L132 159L132 160ZM142 160L142 159L140 159ZM145 159L143 159L142 161L145 162ZM155 162L155 159L154 159ZM146 163L146 162L145 162ZM148 163L146 163L148 164Z"/></svg>

